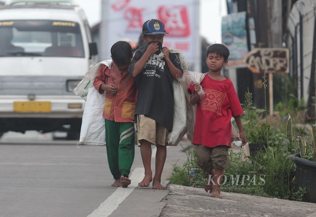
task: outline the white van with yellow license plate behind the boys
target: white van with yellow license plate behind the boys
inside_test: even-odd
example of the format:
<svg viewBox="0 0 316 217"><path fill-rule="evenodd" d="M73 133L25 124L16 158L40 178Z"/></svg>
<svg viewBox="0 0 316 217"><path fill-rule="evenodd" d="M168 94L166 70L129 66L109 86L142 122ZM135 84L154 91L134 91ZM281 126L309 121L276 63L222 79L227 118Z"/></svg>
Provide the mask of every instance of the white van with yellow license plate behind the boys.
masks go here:
<svg viewBox="0 0 316 217"><path fill-rule="evenodd" d="M0 6L0 135L65 131L78 139L84 100L72 90L96 54L87 18L73 1Z"/></svg>

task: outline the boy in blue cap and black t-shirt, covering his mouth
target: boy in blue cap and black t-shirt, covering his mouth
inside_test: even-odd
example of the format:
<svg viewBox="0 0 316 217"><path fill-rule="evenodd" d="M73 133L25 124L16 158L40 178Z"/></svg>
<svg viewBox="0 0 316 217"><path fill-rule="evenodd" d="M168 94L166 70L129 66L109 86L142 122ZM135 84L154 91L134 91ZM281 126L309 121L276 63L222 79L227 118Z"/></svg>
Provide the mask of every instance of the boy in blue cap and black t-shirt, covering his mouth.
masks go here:
<svg viewBox="0 0 316 217"><path fill-rule="evenodd" d="M165 25L160 20L151 19L143 24L143 40L146 46L134 55L129 73L135 78L138 88L135 115L137 115L137 140L145 168L145 177L138 183L148 187L153 181L153 189L165 189L161 185L161 174L166 161L166 141L173 127L173 79L182 77L183 70L176 54L162 47ZM164 58L159 58L159 53ZM154 132L154 133L153 133ZM151 144L156 145L155 176L151 171Z"/></svg>

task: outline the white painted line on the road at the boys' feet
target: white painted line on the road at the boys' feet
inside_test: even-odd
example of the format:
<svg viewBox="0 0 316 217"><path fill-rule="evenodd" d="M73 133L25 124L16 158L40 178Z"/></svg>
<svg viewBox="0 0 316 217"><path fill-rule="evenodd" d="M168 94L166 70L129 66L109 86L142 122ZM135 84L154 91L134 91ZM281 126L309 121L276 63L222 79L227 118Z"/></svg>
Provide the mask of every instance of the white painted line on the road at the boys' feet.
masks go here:
<svg viewBox="0 0 316 217"><path fill-rule="evenodd" d="M112 212L118 208L119 204L131 194L131 192L138 186L144 178L144 168L137 167L133 170L131 177L132 182L127 188L119 187L114 193L109 196L103 203L100 204L99 208L95 209L87 217L106 217L112 214Z"/></svg>

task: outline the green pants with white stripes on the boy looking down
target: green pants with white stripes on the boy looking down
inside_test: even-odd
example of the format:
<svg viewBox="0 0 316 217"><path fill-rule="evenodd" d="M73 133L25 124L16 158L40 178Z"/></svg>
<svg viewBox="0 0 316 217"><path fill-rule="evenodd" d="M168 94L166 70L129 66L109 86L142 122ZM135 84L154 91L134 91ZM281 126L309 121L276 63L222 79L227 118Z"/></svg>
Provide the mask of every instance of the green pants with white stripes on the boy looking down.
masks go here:
<svg viewBox="0 0 316 217"><path fill-rule="evenodd" d="M134 161L134 123L105 119L106 154L114 179L128 177Z"/></svg>

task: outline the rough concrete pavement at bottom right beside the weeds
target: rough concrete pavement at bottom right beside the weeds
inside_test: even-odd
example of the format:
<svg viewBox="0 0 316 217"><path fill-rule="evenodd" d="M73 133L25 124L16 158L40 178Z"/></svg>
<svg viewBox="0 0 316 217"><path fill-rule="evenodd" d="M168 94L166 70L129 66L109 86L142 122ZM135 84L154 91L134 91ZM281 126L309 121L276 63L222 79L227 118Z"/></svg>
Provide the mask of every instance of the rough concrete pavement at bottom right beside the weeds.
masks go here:
<svg viewBox="0 0 316 217"><path fill-rule="evenodd" d="M316 204L221 192L222 199L204 189L169 184L160 216L308 216L316 217Z"/></svg>

